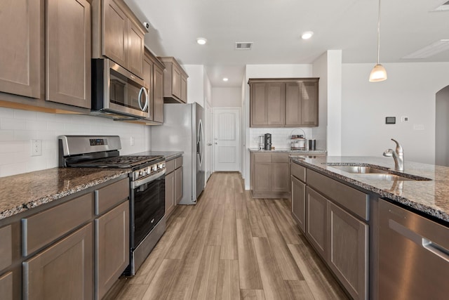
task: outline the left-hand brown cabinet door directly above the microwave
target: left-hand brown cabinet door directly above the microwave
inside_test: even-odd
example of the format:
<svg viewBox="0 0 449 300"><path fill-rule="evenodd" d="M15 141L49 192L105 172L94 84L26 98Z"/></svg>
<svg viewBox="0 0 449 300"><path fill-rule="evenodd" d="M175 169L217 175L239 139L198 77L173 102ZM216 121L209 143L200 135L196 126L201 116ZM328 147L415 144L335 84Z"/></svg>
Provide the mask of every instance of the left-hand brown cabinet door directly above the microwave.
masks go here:
<svg viewBox="0 0 449 300"><path fill-rule="evenodd" d="M128 17L114 0L103 3L103 55L123 67L128 66Z"/></svg>

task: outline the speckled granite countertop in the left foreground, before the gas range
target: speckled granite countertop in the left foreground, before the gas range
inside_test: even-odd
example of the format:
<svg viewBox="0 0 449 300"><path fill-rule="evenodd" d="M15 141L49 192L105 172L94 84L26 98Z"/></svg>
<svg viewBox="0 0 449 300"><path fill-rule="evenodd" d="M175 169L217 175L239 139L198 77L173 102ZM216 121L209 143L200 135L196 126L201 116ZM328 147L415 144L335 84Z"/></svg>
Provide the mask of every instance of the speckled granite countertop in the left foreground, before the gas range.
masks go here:
<svg viewBox="0 0 449 300"><path fill-rule="evenodd" d="M0 220L126 175L130 169L53 168L0 178Z"/></svg>

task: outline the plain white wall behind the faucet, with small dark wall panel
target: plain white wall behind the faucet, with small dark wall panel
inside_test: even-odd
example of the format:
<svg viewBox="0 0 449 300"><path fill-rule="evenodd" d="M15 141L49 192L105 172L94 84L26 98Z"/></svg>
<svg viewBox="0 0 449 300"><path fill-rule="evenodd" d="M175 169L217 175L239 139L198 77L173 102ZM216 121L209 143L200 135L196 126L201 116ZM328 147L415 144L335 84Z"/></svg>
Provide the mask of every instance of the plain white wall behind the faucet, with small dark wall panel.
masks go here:
<svg viewBox="0 0 449 300"><path fill-rule="evenodd" d="M386 63L387 81L375 83L372 67L342 65L342 155L380 156L395 138L406 162L434 164L436 93L449 84L449 63Z"/></svg>

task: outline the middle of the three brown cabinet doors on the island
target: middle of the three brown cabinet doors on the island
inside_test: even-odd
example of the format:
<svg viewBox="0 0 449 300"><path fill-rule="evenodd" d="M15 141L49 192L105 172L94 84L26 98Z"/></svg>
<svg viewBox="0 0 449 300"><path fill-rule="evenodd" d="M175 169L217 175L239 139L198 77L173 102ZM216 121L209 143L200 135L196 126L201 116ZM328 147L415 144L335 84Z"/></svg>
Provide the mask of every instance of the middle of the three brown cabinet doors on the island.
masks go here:
<svg viewBox="0 0 449 300"><path fill-rule="evenodd" d="M323 259L326 259L328 251L326 247L327 202L325 197L309 187L306 188L306 237Z"/></svg>

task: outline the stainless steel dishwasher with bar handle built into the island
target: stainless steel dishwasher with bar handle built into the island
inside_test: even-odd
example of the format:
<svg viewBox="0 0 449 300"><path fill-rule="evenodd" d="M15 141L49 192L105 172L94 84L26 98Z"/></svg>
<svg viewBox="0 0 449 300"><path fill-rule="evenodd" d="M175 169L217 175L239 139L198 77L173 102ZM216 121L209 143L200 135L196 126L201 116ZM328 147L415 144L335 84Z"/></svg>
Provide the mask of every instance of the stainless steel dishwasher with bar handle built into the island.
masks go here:
<svg viewBox="0 0 449 300"><path fill-rule="evenodd" d="M449 228L379 201L378 299L449 299Z"/></svg>

